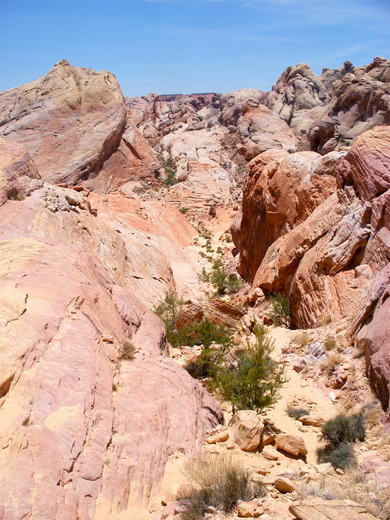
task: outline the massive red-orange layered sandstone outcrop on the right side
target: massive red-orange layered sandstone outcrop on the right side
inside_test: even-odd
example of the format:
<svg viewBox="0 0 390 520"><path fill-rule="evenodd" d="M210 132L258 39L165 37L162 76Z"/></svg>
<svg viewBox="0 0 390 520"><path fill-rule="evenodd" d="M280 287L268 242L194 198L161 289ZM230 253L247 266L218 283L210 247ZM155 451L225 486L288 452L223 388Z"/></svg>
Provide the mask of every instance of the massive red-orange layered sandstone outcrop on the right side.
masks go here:
<svg viewBox="0 0 390 520"><path fill-rule="evenodd" d="M375 313L383 319L386 312L386 306L380 308L390 257L389 150L390 128L381 126L357 138L346 156L261 154L251 163L242 212L232 227L241 273L254 287L287 294L297 326L357 313L354 330L367 346L368 372L386 409L387 333L385 325L368 323ZM302 156L307 169L294 173ZM325 179L323 190L320 179Z"/></svg>

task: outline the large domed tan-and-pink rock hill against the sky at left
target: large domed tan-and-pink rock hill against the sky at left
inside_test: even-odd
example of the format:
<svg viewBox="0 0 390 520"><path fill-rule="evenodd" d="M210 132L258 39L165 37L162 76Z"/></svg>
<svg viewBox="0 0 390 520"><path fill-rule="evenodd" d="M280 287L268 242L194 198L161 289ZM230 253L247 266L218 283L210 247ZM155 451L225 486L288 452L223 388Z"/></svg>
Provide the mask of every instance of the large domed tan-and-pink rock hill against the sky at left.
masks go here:
<svg viewBox="0 0 390 520"><path fill-rule="evenodd" d="M27 148L47 182L86 181L109 191L134 177L134 168L155 178L154 154L126 123L124 98L109 72L62 60L46 76L2 93L0 111L0 134Z"/></svg>

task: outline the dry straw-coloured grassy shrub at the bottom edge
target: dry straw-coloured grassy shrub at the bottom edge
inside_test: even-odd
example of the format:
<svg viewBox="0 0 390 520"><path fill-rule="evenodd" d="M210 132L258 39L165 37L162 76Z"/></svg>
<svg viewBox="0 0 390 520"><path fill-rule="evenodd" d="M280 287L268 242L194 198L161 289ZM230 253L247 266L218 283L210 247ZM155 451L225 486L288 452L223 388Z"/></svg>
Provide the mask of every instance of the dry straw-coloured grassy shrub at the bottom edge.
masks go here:
<svg viewBox="0 0 390 520"><path fill-rule="evenodd" d="M251 475L243 465L228 456L208 455L186 464L185 474L191 486L179 503L185 507L182 520L199 520L208 508L232 511L239 500L248 501L264 496L261 484L251 482Z"/></svg>

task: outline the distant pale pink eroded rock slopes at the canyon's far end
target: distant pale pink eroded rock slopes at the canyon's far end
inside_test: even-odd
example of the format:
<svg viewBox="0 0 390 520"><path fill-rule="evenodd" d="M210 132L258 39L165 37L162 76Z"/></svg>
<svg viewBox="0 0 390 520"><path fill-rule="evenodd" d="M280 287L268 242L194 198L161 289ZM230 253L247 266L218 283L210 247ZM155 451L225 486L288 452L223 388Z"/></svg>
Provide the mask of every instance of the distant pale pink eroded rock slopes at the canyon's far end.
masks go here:
<svg viewBox="0 0 390 520"><path fill-rule="evenodd" d="M171 202L201 211L239 200L236 182L246 160L269 148L295 150L297 138L278 115L259 103L260 91L127 99L132 121L176 171ZM237 155L237 148L241 155Z"/></svg>

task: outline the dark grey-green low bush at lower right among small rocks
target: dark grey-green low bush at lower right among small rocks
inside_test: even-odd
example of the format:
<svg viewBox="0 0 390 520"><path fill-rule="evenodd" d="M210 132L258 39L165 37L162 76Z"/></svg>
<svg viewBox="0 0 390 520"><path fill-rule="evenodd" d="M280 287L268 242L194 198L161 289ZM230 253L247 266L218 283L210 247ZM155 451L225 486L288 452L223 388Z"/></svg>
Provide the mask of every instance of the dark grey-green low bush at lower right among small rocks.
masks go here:
<svg viewBox="0 0 390 520"><path fill-rule="evenodd" d="M364 441L366 435L365 418L362 413L346 416L337 415L326 421L321 428L323 448L317 449L319 462L330 462L337 469L345 470L356 465L352 443Z"/></svg>

